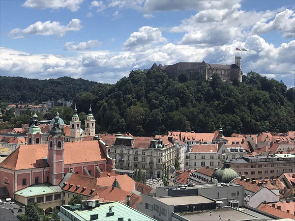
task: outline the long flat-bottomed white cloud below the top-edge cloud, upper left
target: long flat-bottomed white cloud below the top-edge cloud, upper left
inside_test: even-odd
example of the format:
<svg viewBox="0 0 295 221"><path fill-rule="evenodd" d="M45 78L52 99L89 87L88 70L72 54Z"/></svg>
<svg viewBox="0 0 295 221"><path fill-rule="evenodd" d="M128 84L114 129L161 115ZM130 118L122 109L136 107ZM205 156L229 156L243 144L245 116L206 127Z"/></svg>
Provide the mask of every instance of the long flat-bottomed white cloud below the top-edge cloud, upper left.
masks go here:
<svg viewBox="0 0 295 221"><path fill-rule="evenodd" d="M67 31L79 31L81 29L81 21L79 19L72 19L66 26L60 25L59 22L36 22L29 25L28 28L14 28L8 33L8 37L12 39L24 38L27 34L36 35L57 35L62 37Z"/></svg>

